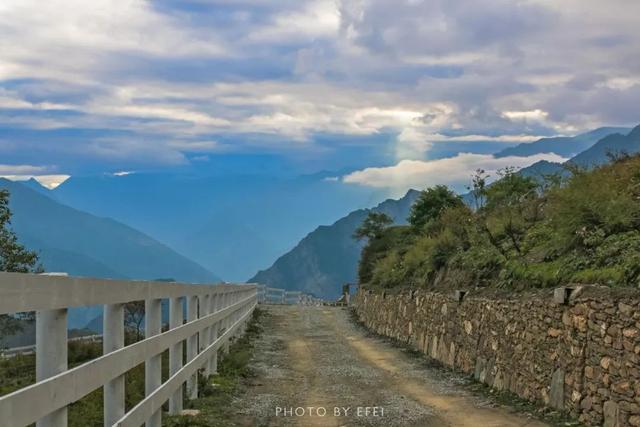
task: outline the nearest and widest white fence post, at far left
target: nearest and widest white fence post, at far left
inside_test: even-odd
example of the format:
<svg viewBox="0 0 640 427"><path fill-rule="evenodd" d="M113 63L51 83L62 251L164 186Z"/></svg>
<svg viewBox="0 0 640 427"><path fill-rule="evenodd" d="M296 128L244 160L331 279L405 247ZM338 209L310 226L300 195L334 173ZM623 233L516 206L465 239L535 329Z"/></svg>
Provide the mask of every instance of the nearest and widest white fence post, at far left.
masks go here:
<svg viewBox="0 0 640 427"><path fill-rule="evenodd" d="M36 381L67 370L67 309L36 313ZM33 402L37 404L37 402ZM37 427L66 427L67 408L42 418Z"/></svg>

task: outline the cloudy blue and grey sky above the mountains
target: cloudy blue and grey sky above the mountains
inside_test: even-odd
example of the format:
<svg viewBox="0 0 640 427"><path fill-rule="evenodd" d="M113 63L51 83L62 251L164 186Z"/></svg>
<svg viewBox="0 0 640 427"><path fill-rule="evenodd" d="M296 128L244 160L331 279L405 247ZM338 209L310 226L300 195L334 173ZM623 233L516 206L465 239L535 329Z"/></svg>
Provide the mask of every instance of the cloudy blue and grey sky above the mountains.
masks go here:
<svg viewBox="0 0 640 427"><path fill-rule="evenodd" d="M637 124L639 16L637 0L3 0L0 175L458 182L503 146ZM541 159L562 160L507 160Z"/></svg>

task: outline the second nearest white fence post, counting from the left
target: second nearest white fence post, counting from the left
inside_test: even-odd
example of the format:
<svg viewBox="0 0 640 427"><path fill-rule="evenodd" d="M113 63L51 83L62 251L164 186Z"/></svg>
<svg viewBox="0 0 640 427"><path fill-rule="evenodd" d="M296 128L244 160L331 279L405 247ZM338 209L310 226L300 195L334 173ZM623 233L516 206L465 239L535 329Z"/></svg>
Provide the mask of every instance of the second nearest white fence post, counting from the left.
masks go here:
<svg viewBox="0 0 640 427"><path fill-rule="evenodd" d="M103 308L102 353L124 347L124 304L108 304ZM124 415L124 375L104 385L104 425L112 426Z"/></svg>

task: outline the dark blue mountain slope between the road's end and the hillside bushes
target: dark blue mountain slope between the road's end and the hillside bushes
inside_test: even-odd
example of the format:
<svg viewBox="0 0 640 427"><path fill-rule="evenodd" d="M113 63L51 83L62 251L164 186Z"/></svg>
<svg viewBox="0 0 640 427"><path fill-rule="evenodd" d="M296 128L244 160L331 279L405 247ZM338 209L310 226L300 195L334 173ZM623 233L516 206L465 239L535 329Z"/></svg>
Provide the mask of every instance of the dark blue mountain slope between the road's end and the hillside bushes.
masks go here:
<svg viewBox="0 0 640 427"><path fill-rule="evenodd" d="M250 282L290 290L301 290L319 297L336 298L345 283L355 283L362 243L352 235L370 211L383 212L396 224L406 224L411 205L419 192L409 190L399 200L389 199L373 209L351 212L332 225L309 233L295 248L282 255Z"/></svg>

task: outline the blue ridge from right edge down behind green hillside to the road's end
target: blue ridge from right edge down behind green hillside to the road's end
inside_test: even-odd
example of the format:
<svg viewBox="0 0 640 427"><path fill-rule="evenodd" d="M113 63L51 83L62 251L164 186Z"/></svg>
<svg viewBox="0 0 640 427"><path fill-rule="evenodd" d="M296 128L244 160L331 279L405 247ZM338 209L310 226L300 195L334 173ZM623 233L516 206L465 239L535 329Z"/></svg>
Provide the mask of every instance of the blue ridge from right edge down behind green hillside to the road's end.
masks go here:
<svg viewBox="0 0 640 427"><path fill-rule="evenodd" d="M558 144L559 147L553 144ZM584 151L567 163L583 167L593 167L609 161L609 153L635 154L640 152L640 126L631 131L627 128L600 128L576 137L541 139L503 150L496 156L525 156L541 152L566 155L576 147L583 148ZM558 172L566 172L566 169L562 164L548 161L537 162L520 171L528 176ZM417 191L411 190L402 199L387 200L374 210L389 214L396 224L403 224L418 194ZM467 203L471 203L468 194L462 197ZM256 274L251 281L265 283L271 287L301 289L325 298L335 298L341 290L341 285L356 281L361 245L355 242L351 235L367 214L366 209L358 210L330 226L318 227L270 268Z"/></svg>

